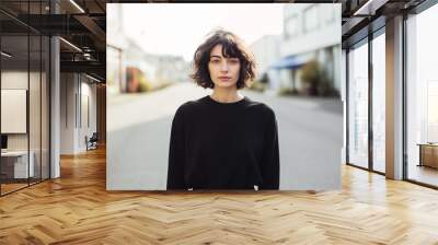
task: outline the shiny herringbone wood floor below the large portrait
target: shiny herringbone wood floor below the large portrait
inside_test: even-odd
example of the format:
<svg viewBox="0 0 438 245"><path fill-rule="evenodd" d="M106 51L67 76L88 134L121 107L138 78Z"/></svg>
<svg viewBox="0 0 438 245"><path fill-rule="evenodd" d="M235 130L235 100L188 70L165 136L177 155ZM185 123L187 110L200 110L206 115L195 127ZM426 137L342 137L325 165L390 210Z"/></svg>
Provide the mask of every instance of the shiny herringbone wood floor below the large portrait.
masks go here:
<svg viewBox="0 0 438 245"><path fill-rule="evenodd" d="M343 166L337 191L106 191L104 148L0 198L0 244L438 244L438 191Z"/></svg>

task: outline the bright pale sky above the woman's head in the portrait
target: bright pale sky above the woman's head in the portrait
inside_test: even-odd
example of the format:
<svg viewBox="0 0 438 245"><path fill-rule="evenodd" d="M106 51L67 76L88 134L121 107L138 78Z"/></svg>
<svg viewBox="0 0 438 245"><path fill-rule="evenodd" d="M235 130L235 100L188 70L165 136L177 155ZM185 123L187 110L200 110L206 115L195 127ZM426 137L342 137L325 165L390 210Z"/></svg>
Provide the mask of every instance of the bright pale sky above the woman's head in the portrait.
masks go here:
<svg viewBox="0 0 438 245"><path fill-rule="evenodd" d="M125 3L124 28L145 51L183 56L191 61L215 27L229 30L251 45L283 33L283 3ZM111 27L111 26L108 26Z"/></svg>

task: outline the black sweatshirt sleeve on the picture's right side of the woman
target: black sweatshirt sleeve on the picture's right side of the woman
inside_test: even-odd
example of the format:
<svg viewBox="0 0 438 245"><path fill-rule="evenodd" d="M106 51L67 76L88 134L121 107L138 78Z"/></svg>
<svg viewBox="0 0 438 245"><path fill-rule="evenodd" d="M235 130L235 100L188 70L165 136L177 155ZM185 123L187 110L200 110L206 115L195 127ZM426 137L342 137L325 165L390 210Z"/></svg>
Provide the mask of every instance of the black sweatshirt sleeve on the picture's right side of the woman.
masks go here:
<svg viewBox="0 0 438 245"><path fill-rule="evenodd" d="M278 150L278 129L274 112L269 110L270 119L267 124L264 138L264 151L261 162L263 185L260 189L279 188L279 150Z"/></svg>

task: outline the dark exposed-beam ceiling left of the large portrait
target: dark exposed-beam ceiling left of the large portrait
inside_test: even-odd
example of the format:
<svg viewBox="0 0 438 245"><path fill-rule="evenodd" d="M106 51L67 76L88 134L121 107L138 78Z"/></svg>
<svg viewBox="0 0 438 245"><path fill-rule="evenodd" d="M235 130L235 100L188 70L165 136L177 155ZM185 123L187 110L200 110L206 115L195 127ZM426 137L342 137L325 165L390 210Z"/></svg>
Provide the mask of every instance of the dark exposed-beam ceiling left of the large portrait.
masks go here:
<svg viewBox="0 0 438 245"><path fill-rule="evenodd" d="M72 3L69 0L51 0L50 5L48 0L1 0L2 49L14 54L3 66L20 69L20 66L27 65L27 33L31 36L59 35L62 37L61 72L87 72L105 81L106 2L108 1L76 0ZM31 38L31 45L35 46L37 39L39 38ZM39 48L39 43L37 46ZM31 67L38 62L39 49L31 47ZM43 55L46 51L43 48Z"/></svg>

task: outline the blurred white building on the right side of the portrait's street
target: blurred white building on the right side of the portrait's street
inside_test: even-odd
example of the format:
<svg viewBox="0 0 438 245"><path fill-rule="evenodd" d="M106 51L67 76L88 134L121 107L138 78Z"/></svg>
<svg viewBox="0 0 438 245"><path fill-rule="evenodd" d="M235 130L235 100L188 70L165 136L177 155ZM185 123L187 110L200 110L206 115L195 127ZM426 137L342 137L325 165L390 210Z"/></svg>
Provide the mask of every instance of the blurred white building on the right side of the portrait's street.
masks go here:
<svg viewBox="0 0 438 245"><path fill-rule="evenodd" d="M315 59L341 91L341 3L286 4L280 57L293 56L302 62ZM299 67L281 70L283 85L301 84Z"/></svg>

